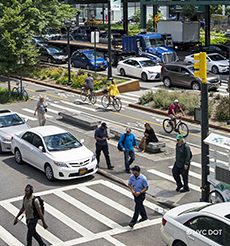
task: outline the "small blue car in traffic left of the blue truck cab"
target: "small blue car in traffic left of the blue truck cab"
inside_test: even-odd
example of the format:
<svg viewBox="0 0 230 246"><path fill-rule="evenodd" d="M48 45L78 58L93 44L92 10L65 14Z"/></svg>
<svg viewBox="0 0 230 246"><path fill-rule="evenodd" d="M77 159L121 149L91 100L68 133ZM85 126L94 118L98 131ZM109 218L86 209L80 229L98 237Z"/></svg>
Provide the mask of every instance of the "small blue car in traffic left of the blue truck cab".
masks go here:
<svg viewBox="0 0 230 246"><path fill-rule="evenodd" d="M86 68L87 70L95 70L95 53L91 50L78 50L71 56L72 67ZM106 70L107 61L96 53L96 70Z"/></svg>

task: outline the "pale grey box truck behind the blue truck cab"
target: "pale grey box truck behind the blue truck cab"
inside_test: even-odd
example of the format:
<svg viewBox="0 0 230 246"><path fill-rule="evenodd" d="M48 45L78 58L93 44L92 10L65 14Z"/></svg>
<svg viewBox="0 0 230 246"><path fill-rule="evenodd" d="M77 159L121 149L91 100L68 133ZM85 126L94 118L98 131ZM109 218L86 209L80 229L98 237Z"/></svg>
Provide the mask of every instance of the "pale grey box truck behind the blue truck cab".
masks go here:
<svg viewBox="0 0 230 246"><path fill-rule="evenodd" d="M159 21L157 32L171 34L174 49L186 50L200 42L199 21Z"/></svg>

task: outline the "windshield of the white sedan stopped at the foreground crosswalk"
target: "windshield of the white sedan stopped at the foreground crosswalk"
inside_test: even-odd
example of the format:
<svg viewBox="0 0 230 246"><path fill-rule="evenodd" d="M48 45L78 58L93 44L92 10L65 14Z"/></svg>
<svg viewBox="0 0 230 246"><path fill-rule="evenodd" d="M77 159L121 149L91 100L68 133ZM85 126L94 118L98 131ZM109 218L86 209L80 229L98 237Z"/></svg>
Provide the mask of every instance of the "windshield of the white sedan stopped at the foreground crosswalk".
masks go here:
<svg viewBox="0 0 230 246"><path fill-rule="evenodd" d="M69 132L46 136L44 137L44 142L49 151L63 151L82 146Z"/></svg>

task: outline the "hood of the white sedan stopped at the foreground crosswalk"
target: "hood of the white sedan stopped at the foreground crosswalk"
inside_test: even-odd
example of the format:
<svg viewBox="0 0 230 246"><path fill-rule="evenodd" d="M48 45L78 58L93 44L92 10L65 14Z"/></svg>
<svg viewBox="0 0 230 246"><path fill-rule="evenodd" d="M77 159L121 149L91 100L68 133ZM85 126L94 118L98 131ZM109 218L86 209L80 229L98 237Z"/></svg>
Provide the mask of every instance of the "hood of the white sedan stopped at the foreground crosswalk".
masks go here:
<svg viewBox="0 0 230 246"><path fill-rule="evenodd" d="M76 162L76 160L91 159L93 156L93 152L84 145L70 150L51 151L49 153L54 161L59 162Z"/></svg>

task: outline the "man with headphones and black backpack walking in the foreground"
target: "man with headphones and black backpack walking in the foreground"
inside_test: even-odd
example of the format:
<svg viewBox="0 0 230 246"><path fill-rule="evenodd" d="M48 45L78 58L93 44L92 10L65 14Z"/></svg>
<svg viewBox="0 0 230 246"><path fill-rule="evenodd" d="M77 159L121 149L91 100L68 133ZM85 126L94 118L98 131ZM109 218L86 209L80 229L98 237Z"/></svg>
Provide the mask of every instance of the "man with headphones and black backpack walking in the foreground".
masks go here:
<svg viewBox="0 0 230 246"><path fill-rule="evenodd" d="M34 195L33 195L33 186L28 184L25 188L25 196L23 198L23 203L20 211L18 212L18 215L14 219L14 224L18 222L18 217L25 211L26 214L26 224L27 224L27 246L32 245L32 237L34 237L40 246L46 246L46 244L42 241L40 235L36 232L36 225L38 222L38 218L34 216L34 207L32 204ZM45 229L48 228L44 216L41 211L41 206L37 198L34 199L34 205L37 209L37 213L40 216L43 227Z"/></svg>

